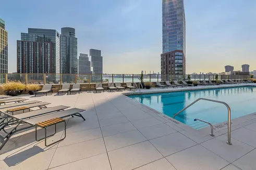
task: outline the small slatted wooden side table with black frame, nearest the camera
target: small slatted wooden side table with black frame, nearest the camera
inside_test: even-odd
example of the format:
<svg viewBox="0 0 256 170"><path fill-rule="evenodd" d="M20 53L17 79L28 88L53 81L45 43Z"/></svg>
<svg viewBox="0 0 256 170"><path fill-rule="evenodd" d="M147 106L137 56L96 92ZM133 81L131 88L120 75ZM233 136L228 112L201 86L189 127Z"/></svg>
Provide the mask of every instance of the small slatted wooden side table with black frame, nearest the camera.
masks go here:
<svg viewBox="0 0 256 170"><path fill-rule="evenodd" d="M53 145L54 143L57 143L57 142L59 142L59 141L65 139L65 138L66 138L66 121L65 121L64 119L61 119L61 118L58 118L58 117L57 117L57 118L54 118L54 119L50 119L50 120L43 121L43 122L40 122L40 123L35 124L35 140L36 140L36 141L39 141L39 140L44 139L44 145L45 145L46 147L50 146L50 145L47 145L47 143L46 143L46 138L55 135L55 134L56 134L56 125L59 124L59 123L62 123L62 122L64 122L64 124L65 124L65 126L64 126L64 134L65 134L65 135L64 135L64 138L59 139L59 140L57 140L57 141L51 143L50 145ZM49 126L52 126L52 125L55 125L55 132L54 132L54 134L47 136L47 134L46 134L47 129L46 129L46 128L49 127ZM44 137L41 138L41 139L38 139L37 127L44 128Z"/></svg>

